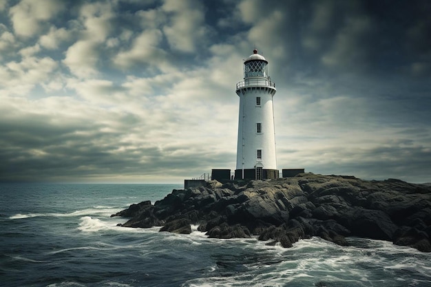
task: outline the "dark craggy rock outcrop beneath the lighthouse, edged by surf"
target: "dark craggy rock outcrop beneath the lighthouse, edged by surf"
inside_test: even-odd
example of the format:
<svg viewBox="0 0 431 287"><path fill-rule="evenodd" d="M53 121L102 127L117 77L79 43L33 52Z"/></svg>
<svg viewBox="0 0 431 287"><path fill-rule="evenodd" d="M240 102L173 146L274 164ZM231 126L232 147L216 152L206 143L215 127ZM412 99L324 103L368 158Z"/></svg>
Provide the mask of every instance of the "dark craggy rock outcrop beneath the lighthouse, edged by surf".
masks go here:
<svg viewBox="0 0 431 287"><path fill-rule="evenodd" d="M191 233L196 224L209 237L257 236L284 247L313 236L347 245L346 236L358 236L431 252L431 187L393 179L302 173L265 181L214 180L112 216L131 217L120 224L125 227Z"/></svg>

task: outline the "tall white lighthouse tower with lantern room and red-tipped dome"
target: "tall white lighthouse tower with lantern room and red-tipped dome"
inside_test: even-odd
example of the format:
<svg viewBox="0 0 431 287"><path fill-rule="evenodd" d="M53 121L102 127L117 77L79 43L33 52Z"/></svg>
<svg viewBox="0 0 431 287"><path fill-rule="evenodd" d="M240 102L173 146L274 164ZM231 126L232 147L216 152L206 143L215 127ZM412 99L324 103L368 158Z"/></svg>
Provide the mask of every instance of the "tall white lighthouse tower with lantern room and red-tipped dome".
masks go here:
<svg viewBox="0 0 431 287"><path fill-rule="evenodd" d="M253 50L244 61L244 81L236 84L240 116L235 179L279 177L273 109L276 91L268 75L268 61Z"/></svg>

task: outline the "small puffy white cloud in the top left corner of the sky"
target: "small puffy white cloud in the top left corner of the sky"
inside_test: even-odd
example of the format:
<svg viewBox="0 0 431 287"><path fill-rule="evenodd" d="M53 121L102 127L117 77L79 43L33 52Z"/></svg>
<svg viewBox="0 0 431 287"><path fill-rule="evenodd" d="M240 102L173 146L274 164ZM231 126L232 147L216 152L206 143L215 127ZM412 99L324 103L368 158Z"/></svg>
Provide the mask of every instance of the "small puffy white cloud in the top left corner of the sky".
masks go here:
<svg viewBox="0 0 431 287"><path fill-rule="evenodd" d="M15 33L23 37L36 36L63 7L63 3L56 0L22 0L9 12Z"/></svg>

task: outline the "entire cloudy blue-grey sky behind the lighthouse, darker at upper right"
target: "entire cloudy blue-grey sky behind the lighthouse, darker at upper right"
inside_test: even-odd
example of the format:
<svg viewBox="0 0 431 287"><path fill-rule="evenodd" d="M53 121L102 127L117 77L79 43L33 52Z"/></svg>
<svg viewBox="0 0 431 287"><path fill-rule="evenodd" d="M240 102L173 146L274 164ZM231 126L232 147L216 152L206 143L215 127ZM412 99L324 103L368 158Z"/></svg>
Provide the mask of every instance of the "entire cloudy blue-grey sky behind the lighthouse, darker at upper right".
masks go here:
<svg viewBox="0 0 431 287"><path fill-rule="evenodd" d="M243 60L278 169L431 182L431 1L0 0L0 182L235 169Z"/></svg>

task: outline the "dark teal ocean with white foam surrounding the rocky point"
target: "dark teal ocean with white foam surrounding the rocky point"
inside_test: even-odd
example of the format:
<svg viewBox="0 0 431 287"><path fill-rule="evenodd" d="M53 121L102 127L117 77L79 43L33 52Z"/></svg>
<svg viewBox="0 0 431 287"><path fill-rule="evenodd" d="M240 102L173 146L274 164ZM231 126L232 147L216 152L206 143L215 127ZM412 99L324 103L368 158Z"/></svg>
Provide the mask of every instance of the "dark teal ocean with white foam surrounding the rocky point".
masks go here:
<svg viewBox="0 0 431 287"><path fill-rule="evenodd" d="M181 184L0 184L0 286L431 286L431 254L317 237L293 248L116 226Z"/></svg>

